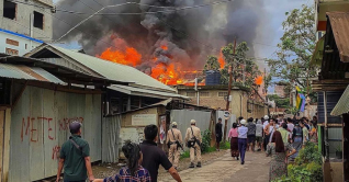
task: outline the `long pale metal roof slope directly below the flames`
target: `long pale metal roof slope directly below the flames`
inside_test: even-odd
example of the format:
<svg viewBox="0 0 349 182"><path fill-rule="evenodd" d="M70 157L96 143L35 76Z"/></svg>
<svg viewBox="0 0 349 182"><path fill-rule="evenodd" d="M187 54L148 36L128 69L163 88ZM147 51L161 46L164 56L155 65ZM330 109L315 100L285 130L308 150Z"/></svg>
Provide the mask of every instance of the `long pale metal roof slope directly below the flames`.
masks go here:
<svg viewBox="0 0 349 182"><path fill-rule="evenodd" d="M76 61L89 67L101 76L116 81L123 82L135 82L136 84L162 89L171 92L176 92L172 88L159 82L158 80L151 78L150 76L137 70L136 68L112 62L109 60L103 60L93 56L86 54L72 52L66 48L48 45L56 50L67 55Z"/></svg>

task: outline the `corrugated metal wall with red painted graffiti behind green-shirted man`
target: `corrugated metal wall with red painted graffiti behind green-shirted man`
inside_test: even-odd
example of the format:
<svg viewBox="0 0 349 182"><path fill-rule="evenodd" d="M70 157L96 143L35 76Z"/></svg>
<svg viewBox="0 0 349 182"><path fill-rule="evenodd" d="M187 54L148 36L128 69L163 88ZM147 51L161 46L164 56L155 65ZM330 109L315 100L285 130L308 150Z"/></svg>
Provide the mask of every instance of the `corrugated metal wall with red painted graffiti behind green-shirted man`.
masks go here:
<svg viewBox="0 0 349 182"><path fill-rule="evenodd" d="M68 124L82 123L92 161L101 160L101 95L26 87L11 113L9 182L56 175Z"/></svg>

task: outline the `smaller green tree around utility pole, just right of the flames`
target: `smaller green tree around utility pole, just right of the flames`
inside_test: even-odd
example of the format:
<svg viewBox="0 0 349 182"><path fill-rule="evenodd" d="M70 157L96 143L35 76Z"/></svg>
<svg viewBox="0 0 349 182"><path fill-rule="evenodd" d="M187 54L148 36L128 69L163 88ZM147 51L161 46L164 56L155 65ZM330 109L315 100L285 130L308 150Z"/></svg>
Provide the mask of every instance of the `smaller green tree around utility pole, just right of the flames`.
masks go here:
<svg viewBox="0 0 349 182"><path fill-rule="evenodd" d="M234 45L228 44L222 48L222 54L225 60L225 67L221 70L221 82L223 84L228 84L229 73L228 68L233 66L233 82L245 84L246 87L254 86L255 79L261 75L258 66L252 58L247 57L247 52L249 47L246 42L241 42L236 46L236 52L234 55Z"/></svg>

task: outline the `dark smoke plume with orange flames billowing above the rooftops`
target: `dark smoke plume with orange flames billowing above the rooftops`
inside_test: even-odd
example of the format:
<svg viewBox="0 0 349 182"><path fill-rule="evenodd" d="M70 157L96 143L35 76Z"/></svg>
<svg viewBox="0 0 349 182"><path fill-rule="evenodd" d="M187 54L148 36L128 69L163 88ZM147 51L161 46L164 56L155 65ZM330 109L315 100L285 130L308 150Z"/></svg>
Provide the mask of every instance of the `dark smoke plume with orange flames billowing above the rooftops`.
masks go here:
<svg viewBox="0 0 349 182"><path fill-rule="evenodd" d="M95 15L61 41L78 41L90 55L100 55L106 48L124 50L126 47L134 47L142 54L142 62L137 68L148 73L154 67L168 64L202 69L207 55L218 55L219 48L234 42L235 37L238 42L247 42L250 47L249 56L254 56L251 43L266 14L263 1L232 0L171 11L173 8L215 1L223 0L137 0L134 2L147 5L125 4L104 9L101 13L114 15ZM125 2L130 0L61 0L57 9L85 14L57 11L56 16L70 25L54 19L54 37L60 37L102 5ZM117 13L135 14L115 15Z"/></svg>

